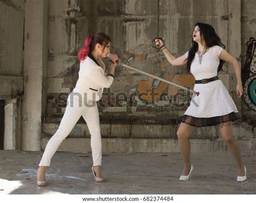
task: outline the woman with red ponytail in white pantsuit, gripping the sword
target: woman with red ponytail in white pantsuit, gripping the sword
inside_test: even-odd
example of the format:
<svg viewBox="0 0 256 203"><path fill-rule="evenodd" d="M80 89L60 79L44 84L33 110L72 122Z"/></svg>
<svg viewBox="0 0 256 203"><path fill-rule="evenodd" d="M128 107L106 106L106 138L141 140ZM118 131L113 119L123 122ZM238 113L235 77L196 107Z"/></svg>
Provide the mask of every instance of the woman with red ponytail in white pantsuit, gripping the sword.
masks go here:
<svg viewBox="0 0 256 203"><path fill-rule="evenodd" d="M50 166L51 158L58 146L69 135L78 119L83 116L91 134L92 173L96 182L103 182L102 140L99 126L99 112L96 101L102 98L103 88L109 88L114 80L118 55L111 55L109 72L105 73L102 58L110 53L110 37L103 32L89 35L84 40L83 48L79 50L79 78L75 89L69 94L68 103L62 121L56 133L46 145L37 172L37 185L45 186L46 167Z"/></svg>

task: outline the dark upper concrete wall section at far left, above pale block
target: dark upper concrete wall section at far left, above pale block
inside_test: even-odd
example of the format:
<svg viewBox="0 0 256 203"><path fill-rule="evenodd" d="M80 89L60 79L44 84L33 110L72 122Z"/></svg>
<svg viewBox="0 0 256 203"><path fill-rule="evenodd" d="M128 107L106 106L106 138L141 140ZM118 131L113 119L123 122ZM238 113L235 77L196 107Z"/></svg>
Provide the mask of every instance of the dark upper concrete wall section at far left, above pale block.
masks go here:
<svg viewBox="0 0 256 203"><path fill-rule="evenodd" d="M11 25L11 26L10 26ZM24 1L0 1L0 99L23 91Z"/></svg>

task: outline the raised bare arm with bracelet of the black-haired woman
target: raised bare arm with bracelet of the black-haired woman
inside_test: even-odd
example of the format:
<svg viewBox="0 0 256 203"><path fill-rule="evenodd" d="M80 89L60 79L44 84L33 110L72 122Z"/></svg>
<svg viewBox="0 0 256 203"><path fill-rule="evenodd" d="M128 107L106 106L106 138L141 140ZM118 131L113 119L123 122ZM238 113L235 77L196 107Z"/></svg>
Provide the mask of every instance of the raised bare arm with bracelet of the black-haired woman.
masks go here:
<svg viewBox="0 0 256 203"><path fill-rule="evenodd" d="M180 56L178 58L174 57L170 53L170 51L166 48L166 46L164 45L164 43L162 42L161 39L156 39L156 46L161 48L161 50L164 52L166 59L170 62L170 64L172 64L174 66L179 66L179 65L184 65L187 63L185 55Z"/></svg>

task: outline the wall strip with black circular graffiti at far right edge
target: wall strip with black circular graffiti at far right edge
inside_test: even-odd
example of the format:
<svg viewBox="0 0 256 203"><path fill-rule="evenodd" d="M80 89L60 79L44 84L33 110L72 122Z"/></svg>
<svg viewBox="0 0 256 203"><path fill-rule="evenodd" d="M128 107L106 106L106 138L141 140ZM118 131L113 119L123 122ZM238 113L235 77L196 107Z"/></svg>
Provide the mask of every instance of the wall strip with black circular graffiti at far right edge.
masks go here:
<svg viewBox="0 0 256 203"><path fill-rule="evenodd" d="M256 2L241 1L241 62L244 97L242 113L250 123L256 123Z"/></svg>

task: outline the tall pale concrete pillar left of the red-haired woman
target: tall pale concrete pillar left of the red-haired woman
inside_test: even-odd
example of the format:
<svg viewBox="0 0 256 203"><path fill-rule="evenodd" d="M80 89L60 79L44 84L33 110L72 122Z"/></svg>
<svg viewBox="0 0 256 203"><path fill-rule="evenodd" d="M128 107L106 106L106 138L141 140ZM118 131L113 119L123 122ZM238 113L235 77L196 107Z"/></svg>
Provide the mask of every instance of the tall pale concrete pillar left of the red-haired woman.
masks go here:
<svg viewBox="0 0 256 203"><path fill-rule="evenodd" d="M41 150L43 74L47 69L48 0L26 0L22 150Z"/></svg>

